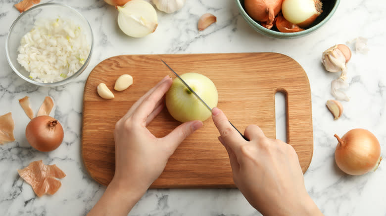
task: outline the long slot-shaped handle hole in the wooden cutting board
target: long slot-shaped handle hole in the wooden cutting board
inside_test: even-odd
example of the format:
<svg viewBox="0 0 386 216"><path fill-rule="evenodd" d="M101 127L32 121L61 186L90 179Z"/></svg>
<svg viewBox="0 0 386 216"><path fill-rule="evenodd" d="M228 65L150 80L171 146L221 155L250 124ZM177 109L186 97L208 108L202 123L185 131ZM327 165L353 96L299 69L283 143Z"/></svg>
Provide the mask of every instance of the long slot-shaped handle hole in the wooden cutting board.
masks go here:
<svg viewBox="0 0 386 216"><path fill-rule="evenodd" d="M278 91L275 94L276 139L287 141L287 93Z"/></svg>

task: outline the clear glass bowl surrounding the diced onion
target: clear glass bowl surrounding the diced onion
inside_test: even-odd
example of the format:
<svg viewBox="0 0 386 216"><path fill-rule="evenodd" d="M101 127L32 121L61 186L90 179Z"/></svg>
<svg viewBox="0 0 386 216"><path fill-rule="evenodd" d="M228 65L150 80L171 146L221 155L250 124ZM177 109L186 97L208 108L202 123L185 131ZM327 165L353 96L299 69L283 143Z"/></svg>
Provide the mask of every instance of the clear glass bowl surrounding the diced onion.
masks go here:
<svg viewBox="0 0 386 216"><path fill-rule="evenodd" d="M37 19L55 19L57 17L64 19L71 19L74 23L79 25L82 29L82 33L85 34L86 39L90 46L90 53L85 60L83 66L75 72L73 75L66 77L63 80L51 83L38 82L29 77L29 72L27 72L18 62L17 55L19 52L17 48L20 45L21 38L31 31L35 25ZM21 78L27 82L33 83L39 86L58 86L66 84L76 77L78 77L88 66L93 52L94 46L94 36L91 30L90 23L87 19L74 8L60 4L60 3L43 3L31 7L29 10L21 13L19 17L13 22L11 28L9 29L8 35L5 40L5 52L7 56L8 63L12 70L16 72Z"/></svg>

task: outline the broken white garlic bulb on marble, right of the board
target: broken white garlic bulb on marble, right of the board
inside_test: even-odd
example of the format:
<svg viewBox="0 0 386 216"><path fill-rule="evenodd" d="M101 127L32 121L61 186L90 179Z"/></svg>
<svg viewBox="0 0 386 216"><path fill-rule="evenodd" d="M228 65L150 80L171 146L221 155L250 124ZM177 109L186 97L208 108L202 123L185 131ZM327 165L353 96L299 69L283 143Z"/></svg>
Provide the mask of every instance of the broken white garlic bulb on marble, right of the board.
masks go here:
<svg viewBox="0 0 386 216"><path fill-rule="evenodd" d="M323 52L322 64L328 72L339 72L346 68L346 57L335 45Z"/></svg>

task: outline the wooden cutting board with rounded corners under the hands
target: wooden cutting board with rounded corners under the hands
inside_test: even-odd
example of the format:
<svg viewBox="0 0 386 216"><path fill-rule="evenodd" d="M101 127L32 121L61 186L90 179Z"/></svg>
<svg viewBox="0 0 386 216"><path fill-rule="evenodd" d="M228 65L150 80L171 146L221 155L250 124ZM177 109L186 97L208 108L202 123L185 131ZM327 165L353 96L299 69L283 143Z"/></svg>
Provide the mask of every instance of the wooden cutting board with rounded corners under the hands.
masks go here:
<svg viewBox="0 0 386 216"><path fill-rule="evenodd" d="M290 57L278 53L124 55L99 63L85 86L82 157L97 182L107 185L114 175L115 122L165 75L175 77L160 59L179 74L197 72L210 78L218 90L218 107L241 132L256 124L267 137L275 138L275 94L284 92L287 141L296 150L303 172L307 170L313 153L310 85L302 67ZM117 92L115 80L124 73L133 76L134 84ZM113 91L114 99L98 96L100 82ZM148 129L163 137L179 124L164 108ZM204 121L177 148L151 188L235 187L218 136L212 119Z"/></svg>

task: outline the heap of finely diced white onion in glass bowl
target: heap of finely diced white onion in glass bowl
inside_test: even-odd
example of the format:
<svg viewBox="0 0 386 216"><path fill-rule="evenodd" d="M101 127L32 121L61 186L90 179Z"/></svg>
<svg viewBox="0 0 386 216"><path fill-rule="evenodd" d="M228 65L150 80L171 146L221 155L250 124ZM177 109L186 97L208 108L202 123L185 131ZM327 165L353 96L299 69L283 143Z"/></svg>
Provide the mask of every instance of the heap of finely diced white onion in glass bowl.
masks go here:
<svg viewBox="0 0 386 216"><path fill-rule="evenodd" d="M59 17L36 21L22 37L18 52L17 61L30 72L31 79L52 83L73 75L85 64L90 44L80 26Z"/></svg>

